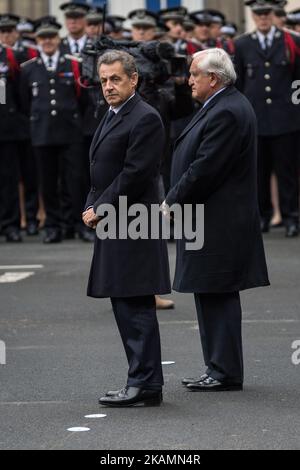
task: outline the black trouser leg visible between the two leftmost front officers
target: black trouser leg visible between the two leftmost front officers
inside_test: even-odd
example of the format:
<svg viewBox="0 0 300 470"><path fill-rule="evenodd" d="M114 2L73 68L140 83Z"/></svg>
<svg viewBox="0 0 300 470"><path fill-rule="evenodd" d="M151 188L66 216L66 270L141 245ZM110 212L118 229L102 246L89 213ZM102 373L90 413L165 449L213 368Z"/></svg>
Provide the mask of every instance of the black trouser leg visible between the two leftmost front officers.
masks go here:
<svg viewBox="0 0 300 470"><path fill-rule="evenodd" d="M24 184L26 221L37 223L39 184L36 158L30 140L19 142L18 151L20 177Z"/></svg>

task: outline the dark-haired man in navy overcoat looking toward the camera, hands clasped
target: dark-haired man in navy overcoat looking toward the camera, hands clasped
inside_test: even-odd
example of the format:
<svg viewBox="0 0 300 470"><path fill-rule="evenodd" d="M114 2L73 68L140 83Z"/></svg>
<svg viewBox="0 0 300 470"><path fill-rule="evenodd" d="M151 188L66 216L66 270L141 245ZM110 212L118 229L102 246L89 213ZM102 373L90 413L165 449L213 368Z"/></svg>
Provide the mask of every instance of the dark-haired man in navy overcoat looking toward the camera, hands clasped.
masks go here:
<svg viewBox="0 0 300 470"><path fill-rule="evenodd" d="M104 204L116 208L118 216L125 215L120 212L121 196L127 197L128 206L159 205L165 140L159 114L135 92L133 58L126 52L107 52L100 59L99 74L110 110L90 152L92 188L83 219L94 228ZM171 290L167 246L150 234L147 239L112 238L96 239L88 295L111 298L129 373L126 387L108 392L100 404L160 405L163 375L155 294Z"/></svg>

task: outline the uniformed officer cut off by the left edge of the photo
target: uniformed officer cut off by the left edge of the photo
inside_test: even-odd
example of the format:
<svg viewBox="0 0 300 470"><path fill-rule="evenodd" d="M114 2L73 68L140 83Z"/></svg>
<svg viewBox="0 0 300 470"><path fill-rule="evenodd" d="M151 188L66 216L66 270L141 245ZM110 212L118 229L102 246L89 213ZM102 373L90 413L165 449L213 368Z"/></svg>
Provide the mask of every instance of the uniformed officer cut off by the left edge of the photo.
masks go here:
<svg viewBox="0 0 300 470"><path fill-rule="evenodd" d="M0 16L2 40L15 26L13 16ZM20 112L17 59L12 48L1 44L0 79L1 97L5 98L0 104L0 225L8 242L21 242L18 142L26 138L28 122Z"/></svg>

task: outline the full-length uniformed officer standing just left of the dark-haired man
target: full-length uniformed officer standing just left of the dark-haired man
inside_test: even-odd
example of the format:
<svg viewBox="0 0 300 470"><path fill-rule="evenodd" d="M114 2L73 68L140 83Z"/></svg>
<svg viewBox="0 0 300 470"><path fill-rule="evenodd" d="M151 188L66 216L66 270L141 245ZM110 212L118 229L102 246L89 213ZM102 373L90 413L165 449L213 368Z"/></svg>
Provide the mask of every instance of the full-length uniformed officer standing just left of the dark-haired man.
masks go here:
<svg viewBox="0 0 300 470"><path fill-rule="evenodd" d="M30 115L31 138L38 157L46 210L44 243L62 241L62 218L76 227L85 240L81 222L82 118L80 69L77 60L60 53L59 29L53 21L41 21L36 36L41 56L22 65L24 109ZM68 205L61 213L61 188Z"/></svg>

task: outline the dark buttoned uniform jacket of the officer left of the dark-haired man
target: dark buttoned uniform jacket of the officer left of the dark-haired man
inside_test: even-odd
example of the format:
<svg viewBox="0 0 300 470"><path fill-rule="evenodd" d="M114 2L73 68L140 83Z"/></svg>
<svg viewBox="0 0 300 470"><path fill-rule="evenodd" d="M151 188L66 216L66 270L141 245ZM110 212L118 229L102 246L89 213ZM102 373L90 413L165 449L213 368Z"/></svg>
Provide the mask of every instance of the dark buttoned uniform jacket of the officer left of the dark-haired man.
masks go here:
<svg viewBox="0 0 300 470"><path fill-rule="evenodd" d="M80 143L82 110L72 61L60 56L52 72L38 57L21 69L23 109L30 116L33 146Z"/></svg>

